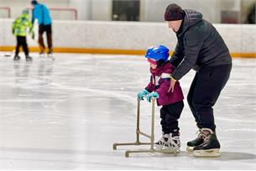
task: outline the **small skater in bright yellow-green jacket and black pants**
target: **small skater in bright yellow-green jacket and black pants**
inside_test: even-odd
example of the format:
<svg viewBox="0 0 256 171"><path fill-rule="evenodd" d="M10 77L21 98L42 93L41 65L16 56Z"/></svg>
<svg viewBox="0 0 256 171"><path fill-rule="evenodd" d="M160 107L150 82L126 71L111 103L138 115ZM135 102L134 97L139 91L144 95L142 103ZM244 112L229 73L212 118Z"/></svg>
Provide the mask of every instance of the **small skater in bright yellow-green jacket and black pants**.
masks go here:
<svg viewBox="0 0 256 171"><path fill-rule="evenodd" d="M32 34L32 38L34 39L34 30L31 21L29 20L29 10L25 9L21 16L19 16L13 22L13 34L17 38L17 45L15 50L15 56L13 60L19 60L20 57L18 56L19 47L22 46L24 49L24 53L26 55L26 60L30 61L32 58L29 56L29 49L27 44L27 29L29 28L29 33Z"/></svg>

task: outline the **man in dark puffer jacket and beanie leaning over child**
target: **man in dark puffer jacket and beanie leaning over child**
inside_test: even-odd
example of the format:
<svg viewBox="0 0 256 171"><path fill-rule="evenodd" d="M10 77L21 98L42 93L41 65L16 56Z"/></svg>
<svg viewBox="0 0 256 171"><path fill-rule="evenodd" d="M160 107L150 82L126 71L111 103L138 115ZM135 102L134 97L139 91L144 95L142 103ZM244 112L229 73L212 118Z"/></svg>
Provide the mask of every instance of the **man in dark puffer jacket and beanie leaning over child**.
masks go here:
<svg viewBox="0 0 256 171"><path fill-rule="evenodd" d="M217 140L213 109L222 88L226 85L232 68L232 59L220 34L212 23L204 20L202 14L194 10L182 9L175 3L165 10L168 21L178 42L170 63L175 65L170 91L174 91L176 80L180 80L189 70L196 75L187 96L196 125L198 137L187 142L187 150L194 156L217 157L220 143Z"/></svg>

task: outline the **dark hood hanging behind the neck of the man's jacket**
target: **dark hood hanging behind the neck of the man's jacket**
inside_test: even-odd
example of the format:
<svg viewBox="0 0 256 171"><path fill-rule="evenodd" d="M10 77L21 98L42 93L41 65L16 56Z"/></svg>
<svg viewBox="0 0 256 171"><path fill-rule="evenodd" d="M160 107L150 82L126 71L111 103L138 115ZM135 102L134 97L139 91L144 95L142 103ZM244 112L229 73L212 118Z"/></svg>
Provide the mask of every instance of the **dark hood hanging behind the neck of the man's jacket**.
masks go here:
<svg viewBox="0 0 256 171"><path fill-rule="evenodd" d="M195 25L196 23L202 20L202 14L192 10L192 9L184 9L185 11L185 18L182 23L182 28L179 30L178 34L184 34L187 29L191 26Z"/></svg>

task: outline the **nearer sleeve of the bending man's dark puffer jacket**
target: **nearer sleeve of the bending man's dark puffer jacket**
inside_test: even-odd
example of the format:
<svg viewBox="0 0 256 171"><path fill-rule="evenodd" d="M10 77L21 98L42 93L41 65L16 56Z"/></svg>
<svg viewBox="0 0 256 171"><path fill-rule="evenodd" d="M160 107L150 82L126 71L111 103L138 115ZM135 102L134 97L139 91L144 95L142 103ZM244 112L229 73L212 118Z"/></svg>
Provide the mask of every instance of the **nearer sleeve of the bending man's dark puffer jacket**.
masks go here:
<svg viewBox="0 0 256 171"><path fill-rule="evenodd" d="M185 57L172 73L172 77L175 80L180 80L182 76L188 73L194 65L196 65L196 60L203 44L201 32L196 29L188 30L185 33Z"/></svg>

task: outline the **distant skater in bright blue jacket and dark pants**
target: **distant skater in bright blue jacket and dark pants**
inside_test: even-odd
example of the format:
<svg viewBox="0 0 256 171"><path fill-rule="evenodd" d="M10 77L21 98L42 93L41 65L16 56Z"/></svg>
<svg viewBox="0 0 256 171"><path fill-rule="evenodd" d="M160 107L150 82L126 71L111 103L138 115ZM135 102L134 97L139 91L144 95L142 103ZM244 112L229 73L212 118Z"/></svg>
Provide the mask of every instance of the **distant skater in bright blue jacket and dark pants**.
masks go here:
<svg viewBox="0 0 256 171"><path fill-rule="evenodd" d="M44 54L45 46L44 46L44 39L43 34L46 32L47 35L47 44L48 44L48 54L52 54L53 47L52 47L52 29L51 29L51 18L50 18L50 11L49 9L41 3L33 0L31 1L33 8L32 13L32 23L34 24L35 19L38 20L39 23L39 54Z"/></svg>

